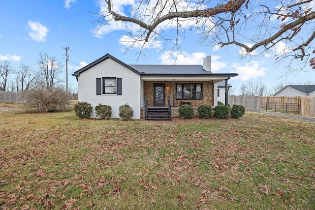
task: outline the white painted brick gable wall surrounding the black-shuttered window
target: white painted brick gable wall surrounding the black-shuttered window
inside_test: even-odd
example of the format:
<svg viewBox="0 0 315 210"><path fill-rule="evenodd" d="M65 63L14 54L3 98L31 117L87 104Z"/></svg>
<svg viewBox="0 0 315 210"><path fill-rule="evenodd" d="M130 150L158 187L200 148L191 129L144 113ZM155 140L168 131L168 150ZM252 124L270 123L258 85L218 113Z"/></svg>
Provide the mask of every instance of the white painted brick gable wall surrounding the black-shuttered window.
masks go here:
<svg viewBox="0 0 315 210"><path fill-rule="evenodd" d="M122 78L122 95L96 95L96 78ZM112 118L119 118L119 106L128 104L133 109L133 119L140 119L140 76L114 60L106 59L82 72L78 77L79 101L112 107ZM95 118L93 109L92 118Z"/></svg>

